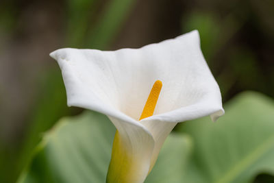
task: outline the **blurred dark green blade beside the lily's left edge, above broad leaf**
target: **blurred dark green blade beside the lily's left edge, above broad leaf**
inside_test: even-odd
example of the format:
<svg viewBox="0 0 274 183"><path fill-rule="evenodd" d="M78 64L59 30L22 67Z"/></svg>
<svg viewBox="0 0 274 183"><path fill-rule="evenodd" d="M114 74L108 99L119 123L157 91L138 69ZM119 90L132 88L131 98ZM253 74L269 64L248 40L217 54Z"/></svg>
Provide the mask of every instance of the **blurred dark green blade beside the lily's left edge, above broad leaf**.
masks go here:
<svg viewBox="0 0 274 183"><path fill-rule="evenodd" d="M42 132L52 127L60 117L71 113L71 108L66 106L66 91L59 69L53 69L49 73L41 80L40 96L29 117L22 149L16 156L16 167L13 167L16 176L31 158L31 152L42 138ZM13 177L14 180L16 176Z"/></svg>

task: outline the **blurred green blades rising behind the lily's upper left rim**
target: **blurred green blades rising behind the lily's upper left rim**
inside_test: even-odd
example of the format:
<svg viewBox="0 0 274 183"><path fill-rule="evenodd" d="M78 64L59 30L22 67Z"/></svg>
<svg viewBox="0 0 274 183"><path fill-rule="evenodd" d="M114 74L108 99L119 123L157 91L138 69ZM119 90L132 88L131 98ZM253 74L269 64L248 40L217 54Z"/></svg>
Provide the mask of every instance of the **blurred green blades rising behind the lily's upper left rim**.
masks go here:
<svg viewBox="0 0 274 183"><path fill-rule="evenodd" d="M121 29L135 0L111 0L103 11L96 0L68 0L68 26L66 39L69 47L106 49ZM97 14L96 14L97 13Z"/></svg>

